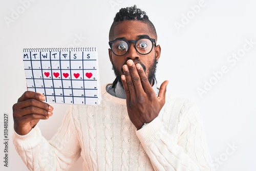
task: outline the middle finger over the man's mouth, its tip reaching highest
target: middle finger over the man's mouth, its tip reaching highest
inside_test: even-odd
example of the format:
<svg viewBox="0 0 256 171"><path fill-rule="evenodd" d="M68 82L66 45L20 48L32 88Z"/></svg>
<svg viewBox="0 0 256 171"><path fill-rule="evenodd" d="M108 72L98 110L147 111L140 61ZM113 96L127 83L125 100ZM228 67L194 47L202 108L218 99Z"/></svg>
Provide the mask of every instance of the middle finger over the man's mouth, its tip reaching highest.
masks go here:
<svg viewBox="0 0 256 171"><path fill-rule="evenodd" d="M136 91L136 94L141 94L142 92L144 93L144 90L142 88L142 84L141 84L141 79L139 76L139 73L137 71L136 65L133 62L133 60L127 60L127 66L129 67L130 73L131 73L131 77L134 84L134 88ZM144 71L143 71L144 72Z"/></svg>

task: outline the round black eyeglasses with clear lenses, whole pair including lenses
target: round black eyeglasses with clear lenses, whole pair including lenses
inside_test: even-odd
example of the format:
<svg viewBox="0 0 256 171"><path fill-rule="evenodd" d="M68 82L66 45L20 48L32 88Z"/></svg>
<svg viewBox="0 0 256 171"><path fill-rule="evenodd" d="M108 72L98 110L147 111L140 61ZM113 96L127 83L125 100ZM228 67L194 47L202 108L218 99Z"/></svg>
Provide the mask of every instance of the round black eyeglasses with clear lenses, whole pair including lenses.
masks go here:
<svg viewBox="0 0 256 171"><path fill-rule="evenodd" d="M109 41L109 45L112 52L117 56L125 55L129 51L131 43L134 44L134 48L139 54L147 55L152 51L154 42L156 46L156 40L154 38L144 37L138 40L129 41L118 38L113 41Z"/></svg>

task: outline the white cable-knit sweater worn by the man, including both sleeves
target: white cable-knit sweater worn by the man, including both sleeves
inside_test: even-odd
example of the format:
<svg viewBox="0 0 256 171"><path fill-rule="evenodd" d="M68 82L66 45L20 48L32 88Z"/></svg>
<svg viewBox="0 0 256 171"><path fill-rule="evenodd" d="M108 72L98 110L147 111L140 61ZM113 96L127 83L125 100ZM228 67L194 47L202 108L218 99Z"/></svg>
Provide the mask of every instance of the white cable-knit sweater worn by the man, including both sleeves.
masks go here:
<svg viewBox="0 0 256 171"><path fill-rule="evenodd" d="M105 87L99 106L71 105L50 141L38 126L25 136L13 134L16 151L30 170L68 170L79 156L83 170L210 170L193 102L166 95L159 116L137 131L125 99Z"/></svg>

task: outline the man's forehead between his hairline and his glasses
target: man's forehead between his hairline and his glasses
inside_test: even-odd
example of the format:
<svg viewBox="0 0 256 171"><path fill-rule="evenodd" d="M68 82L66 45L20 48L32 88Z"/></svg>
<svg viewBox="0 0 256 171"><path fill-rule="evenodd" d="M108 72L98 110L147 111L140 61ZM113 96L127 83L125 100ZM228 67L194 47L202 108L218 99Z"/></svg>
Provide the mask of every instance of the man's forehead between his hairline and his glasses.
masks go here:
<svg viewBox="0 0 256 171"><path fill-rule="evenodd" d="M114 28L114 39L138 39L140 37L153 37L146 23L139 21L125 21L121 22Z"/></svg>

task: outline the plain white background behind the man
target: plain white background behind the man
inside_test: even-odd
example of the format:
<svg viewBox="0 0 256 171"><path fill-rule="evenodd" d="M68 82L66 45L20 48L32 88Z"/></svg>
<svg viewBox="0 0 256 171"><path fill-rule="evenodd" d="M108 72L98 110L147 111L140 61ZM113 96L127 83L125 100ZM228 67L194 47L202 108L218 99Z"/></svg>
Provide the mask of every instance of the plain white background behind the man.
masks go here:
<svg viewBox="0 0 256 171"><path fill-rule="evenodd" d="M254 0L205 0L193 12L193 1L29 1L0 2L1 52L1 136L4 113L9 114L9 167L4 167L4 146L0 158L3 170L28 170L12 144L12 105L26 90L23 48L97 47L101 85L114 74L108 57L108 35L113 18L122 7L134 4L146 11L158 33L162 53L157 68L160 83L169 80L172 95L195 101L200 109L212 164L217 170L254 170L256 2ZM25 7L26 8L25 8ZM14 13L18 13L15 15ZM184 16L188 15L186 20ZM10 23L8 23L8 20ZM175 23L183 27L175 27ZM80 39L77 37L80 36ZM254 42L236 63L232 53L243 52L246 41ZM248 45L246 45L249 48ZM227 73L219 79L212 72ZM200 97L205 81L212 87ZM208 85L209 86L209 85ZM54 115L40 121L42 134L50 139L68 105L54 104ZM4 139L4 138L2 138ZM230 148L230 145L234 148ZM81 170L81 159L71 170Z"/></svg>

